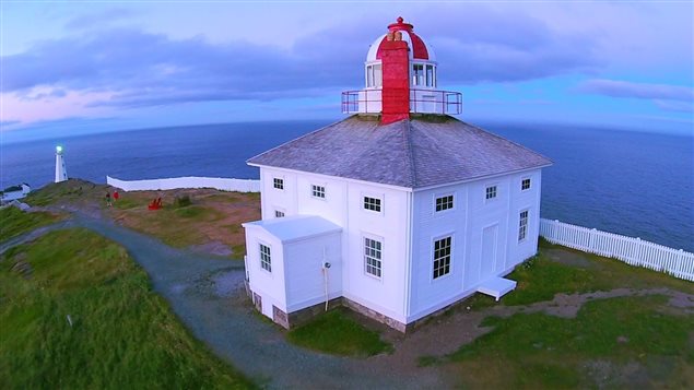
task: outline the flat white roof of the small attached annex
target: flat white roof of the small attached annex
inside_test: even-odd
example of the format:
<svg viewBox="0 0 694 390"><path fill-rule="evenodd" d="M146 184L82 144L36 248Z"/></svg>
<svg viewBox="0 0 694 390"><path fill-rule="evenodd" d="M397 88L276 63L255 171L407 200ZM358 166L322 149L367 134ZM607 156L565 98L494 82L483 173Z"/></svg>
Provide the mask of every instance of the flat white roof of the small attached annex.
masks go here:
<svg viewBox="0 0 694 390"><path fill-rule="evenodd" d="M247 222L247 226L258 226L282 243L342 232L342 227L317 215L292 215L281 218Z"/></svg>

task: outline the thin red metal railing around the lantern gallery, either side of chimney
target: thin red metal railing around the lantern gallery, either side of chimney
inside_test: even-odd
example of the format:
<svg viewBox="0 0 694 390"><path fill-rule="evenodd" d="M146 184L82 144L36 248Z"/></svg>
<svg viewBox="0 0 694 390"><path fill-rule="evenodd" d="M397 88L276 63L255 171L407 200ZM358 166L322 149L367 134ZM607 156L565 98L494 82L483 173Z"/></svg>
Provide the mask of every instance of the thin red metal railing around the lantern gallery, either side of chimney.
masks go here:
<svg viewBox="0 0 694 390"><path fill-rule="evenodd" d="M344 91L342 113L380 114L381 102L381 90ZM462 94L451 91L410 90L410 113L458 115L462 113Z"/></svg>

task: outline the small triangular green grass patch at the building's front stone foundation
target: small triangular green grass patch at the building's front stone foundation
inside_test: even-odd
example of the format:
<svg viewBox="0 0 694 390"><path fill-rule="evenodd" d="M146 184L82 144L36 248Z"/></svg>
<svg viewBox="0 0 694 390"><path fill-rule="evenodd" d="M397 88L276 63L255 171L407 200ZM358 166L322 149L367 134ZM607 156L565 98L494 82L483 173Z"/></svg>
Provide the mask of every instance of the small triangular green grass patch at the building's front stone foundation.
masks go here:
<svg viewBox="0 0 694 390"><path fill-rule="evenodd" d="M378 332L368 330L350 317L344 308L337 308L292 329L287 340L310 350L342 356L367 357L389 352L392 345L380 340Z"/></svg>

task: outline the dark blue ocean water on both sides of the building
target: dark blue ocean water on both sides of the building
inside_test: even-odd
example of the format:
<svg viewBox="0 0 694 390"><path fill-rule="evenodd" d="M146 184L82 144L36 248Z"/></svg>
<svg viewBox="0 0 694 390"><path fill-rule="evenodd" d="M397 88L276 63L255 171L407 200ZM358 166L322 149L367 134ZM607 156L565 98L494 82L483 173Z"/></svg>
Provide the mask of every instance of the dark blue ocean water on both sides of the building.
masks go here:
<svg viewBox="0 0 694 390"><path fill-rule="evenodd" d="M58 143L68 175L95 182L105 182L106 175L258 178L247 158L325 125L188 126L2 144L0 187L52 181ZM554 162L543 170L543 217L694 251L694 138L548 125L482 127Z"/></svg>

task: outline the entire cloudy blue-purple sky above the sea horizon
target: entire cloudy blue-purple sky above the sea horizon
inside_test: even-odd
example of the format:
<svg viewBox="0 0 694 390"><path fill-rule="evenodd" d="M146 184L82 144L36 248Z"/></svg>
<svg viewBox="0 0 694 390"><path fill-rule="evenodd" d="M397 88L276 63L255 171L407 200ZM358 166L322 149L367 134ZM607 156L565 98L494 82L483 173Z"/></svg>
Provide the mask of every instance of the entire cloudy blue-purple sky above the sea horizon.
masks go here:
<svg viewBox="0 0 694 390"><path fill-rule="evenodd" d="M398 16L471 122L693 133L692 1L0 2L0 141L343 117Z"/></svg>

